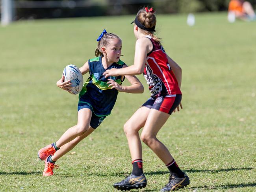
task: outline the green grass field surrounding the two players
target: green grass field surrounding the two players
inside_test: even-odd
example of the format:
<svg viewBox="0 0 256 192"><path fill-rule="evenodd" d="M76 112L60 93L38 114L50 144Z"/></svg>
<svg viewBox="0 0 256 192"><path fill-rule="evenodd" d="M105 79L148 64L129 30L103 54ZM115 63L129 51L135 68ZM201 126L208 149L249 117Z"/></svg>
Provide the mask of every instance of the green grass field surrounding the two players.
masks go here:
<svg viewBox="0 0 256 192"><path fill-rule="evenodd" d="M0 191L117 191L132 171L122 126L150 93L120 93L108 118L42 177L37 151L76 124L76 95L56 87L64 66L94 57L104 28L122 38L134 61L134 16L15 22L0 27ZM191 179L180 191L256 191L256 23L226 14L158 15L158 36L182 67L182 104L158 138ZM87 75L84 76L84 79ZM128 85L128 83L124 83ZM165 165L143 144L148 185L168 180ZM136 190L133 190L136 191Z"/></svg>

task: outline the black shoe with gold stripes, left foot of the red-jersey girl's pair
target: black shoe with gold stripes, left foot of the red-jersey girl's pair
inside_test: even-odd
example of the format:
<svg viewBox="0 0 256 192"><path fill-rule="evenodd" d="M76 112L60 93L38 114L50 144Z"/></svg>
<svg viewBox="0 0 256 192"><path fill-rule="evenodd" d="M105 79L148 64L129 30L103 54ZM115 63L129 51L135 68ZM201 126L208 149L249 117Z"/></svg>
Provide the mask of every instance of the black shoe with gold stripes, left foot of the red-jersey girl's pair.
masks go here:
<svg viewBox="0 0 256 192"><path fill-rule="evenodd" d="M115 183L114 187L118 190L131 190L143 188L147 185L147 179L144 174L135 176L133 174L127 176L120 183Z"/></svg>

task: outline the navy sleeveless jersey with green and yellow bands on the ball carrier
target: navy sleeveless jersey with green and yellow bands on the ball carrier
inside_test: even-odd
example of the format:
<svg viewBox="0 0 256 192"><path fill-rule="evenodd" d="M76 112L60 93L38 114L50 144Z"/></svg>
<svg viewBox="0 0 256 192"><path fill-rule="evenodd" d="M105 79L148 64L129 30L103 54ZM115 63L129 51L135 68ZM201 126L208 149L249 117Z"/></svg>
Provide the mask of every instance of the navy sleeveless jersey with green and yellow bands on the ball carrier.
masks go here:
<svg viewBox="0 0 256 192"><path fill-rule="evenodd" d="M79 103L87 103L90 105L96 116L107 116L111 113L119 92L116 89L108 87L108 79L113 79L119 85L122 85L124 79L121 79L122 76L110 76L105 78L102 74L107 69L122 68L125 63L119 60L117 63L112 63L107 69L104 69L101 59L102 56L89 59L90 77L83 85L83 89L79 94Z"/></svg>

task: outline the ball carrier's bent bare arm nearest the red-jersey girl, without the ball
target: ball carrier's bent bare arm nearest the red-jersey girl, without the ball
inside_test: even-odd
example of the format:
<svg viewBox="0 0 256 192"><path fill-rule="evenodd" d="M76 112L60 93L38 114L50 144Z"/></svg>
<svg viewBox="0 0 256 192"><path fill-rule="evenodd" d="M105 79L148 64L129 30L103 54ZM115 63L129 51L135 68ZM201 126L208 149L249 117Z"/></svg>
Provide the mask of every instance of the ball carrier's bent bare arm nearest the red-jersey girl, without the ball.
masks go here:
<svg viewBox="0 0 256 192"><path fill-rule="evenodd" d="M124 67L127 68L128 66L124 65L123 68ZM128 79L128 81L132 85L121 86L117 82L113 81L112 79L108 79L109 80L108 87L111 87L111 89L116 89L116 90L119 90L121 92L126 92L126 93L143 93L144 92L144 87L138 78L136 78L135 76L130 76L130 75L126 75L125 78Z"/></svg>

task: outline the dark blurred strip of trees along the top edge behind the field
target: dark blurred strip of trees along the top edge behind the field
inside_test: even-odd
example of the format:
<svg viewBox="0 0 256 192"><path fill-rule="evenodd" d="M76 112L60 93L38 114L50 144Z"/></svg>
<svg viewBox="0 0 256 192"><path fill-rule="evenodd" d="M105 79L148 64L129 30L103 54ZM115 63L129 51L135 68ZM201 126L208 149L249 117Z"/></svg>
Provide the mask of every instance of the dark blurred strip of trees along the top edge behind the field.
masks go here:
<svg viewBox="0 0 256 192"><path fill-rule="evenodd" d="M38 2L44 2L44 5L47 6L61 4L71 6L29 8L31 5L29 2L33 1L35 1L36 4ZM256 0L248 1L252 5L256 4ZM144 6L154 7L156 13L226 11L230 0L148 0L148 2L147 0L15 0L15 2L19 5L16 9L16 19L27 19L127 15L136 14L137 11Z"/></svg>

